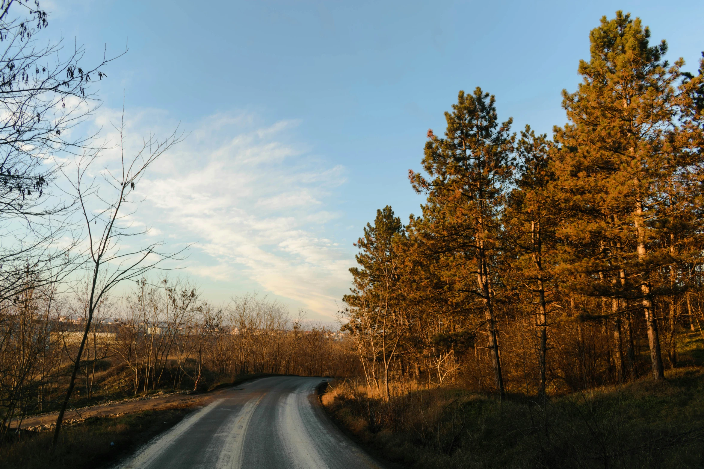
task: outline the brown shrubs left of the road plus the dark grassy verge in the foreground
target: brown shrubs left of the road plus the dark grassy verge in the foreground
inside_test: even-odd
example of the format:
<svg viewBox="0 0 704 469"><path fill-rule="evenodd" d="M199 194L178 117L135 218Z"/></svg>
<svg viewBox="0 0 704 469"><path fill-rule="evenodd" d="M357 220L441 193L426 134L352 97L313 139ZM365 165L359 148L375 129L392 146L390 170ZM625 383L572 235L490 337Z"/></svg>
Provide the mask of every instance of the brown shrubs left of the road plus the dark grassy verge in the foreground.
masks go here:
<svg viewBox="0 0 704 469"><path fill-rule="evenodd" d="M254 295L213 311L193 290L142 282L123 300L125 309L116 304L111 309L120 321L102 321L99 309L89 328L91 339L55 445L56 411L77 356L82 316L60 321L53 314L37 314L32 301L23 302L20 311L4 310L4 327L23 333L6 336L0 348L2 467L108 467L177 423L192 403L144 412L135 401L132 413L101 418L80 418L72 409L83 413L135 397L198 394L268 375L353 375L358 366L336 334L293 321L280 304ZM18 369L21 380L8 372ZM30 420L44 414L48 423Z"/></svg>

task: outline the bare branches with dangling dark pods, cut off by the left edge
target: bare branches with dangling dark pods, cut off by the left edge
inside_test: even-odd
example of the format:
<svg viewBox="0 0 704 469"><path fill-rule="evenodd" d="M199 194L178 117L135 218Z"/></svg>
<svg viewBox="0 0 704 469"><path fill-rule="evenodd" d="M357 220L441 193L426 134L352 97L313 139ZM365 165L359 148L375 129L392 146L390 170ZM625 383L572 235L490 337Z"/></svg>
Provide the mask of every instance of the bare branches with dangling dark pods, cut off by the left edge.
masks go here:
<svg viewBox="0 0 704 469"><path fill-rule="evenodd" d="M69 130L99 105L89 85L122 55L84 67L83 46L39 42L48 24L38 1L0 1L0 300L37 288L69 260L73 245L55 241L66 229L57 217L72 206L51 193L52 157L89 147L91 135Z"/></svg>

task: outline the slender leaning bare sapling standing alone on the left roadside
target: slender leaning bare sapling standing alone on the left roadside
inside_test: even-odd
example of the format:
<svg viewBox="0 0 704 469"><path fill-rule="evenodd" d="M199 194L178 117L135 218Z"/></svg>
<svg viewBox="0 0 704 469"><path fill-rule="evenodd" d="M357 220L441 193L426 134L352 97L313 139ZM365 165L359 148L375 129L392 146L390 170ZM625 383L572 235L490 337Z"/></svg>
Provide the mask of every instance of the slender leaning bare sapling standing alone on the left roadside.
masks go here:
<svg viewBox="0 0 704 469"><path fill-rule="evenodd" d="M89 169L99 160L101 150L84 154L78 158L75 176L68 177L80 207L87 235L85 265L90 272L89 298L83 338L76 354L68 389L56 418L53 446L56 446L58 441L63 414L73 393L76 375L80 368L80 359L96 307L118 283L142 277L147 271L161 264L163 260L175 257L173 254L160 252L163 241L147 243L143 248L129 249L124 248L121 242L125 238L134 238L146 233L145 230L134 229L134 226L130 224L128 219L130 215L134 214L134 210L125 212L126 205L141 201L134 198L135 186L139 184L147 167L172 146L179 143L183 134L177 134L176 130L163 141L150 136L143 142L137 154L130 158L125 155L124 110L120 127L115 127L115 129L118 130L120 136L118 143L119 164L116 168L106 167L103 169L101 172L103 184L98 184L96 176L91 176L89 172Z"/></svg>

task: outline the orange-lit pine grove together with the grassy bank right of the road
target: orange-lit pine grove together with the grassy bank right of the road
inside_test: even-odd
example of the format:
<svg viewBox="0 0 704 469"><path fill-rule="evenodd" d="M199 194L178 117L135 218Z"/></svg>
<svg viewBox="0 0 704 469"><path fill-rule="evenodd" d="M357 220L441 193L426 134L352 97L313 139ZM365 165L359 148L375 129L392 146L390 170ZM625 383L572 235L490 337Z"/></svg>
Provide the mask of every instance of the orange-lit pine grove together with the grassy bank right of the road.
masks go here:
<svg viewBox="0 0 704 469"><path fill-rule="evenodd" d="M460 91L420 215L356 243L362 373L322 399L403 467L703 464L704 60L620 11L589 40L552 139Z"/></svg>

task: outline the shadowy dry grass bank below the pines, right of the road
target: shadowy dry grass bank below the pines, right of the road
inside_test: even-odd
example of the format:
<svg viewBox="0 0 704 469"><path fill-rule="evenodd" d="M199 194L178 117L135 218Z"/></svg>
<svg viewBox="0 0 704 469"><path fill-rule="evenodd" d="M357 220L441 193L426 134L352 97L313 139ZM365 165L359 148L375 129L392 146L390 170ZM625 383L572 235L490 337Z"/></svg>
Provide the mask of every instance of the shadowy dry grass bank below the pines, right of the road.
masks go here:
<svg viewBox="0 0 704 469"><path fill-rule="evenodd" d="M539 402L457 389L379 399L332 383L327 409L363 443L408 468L704 467L704 368ZM399 393L400 394L400 393Z"/></svg>

